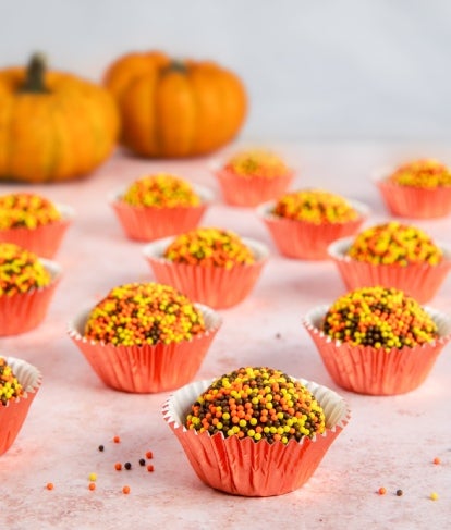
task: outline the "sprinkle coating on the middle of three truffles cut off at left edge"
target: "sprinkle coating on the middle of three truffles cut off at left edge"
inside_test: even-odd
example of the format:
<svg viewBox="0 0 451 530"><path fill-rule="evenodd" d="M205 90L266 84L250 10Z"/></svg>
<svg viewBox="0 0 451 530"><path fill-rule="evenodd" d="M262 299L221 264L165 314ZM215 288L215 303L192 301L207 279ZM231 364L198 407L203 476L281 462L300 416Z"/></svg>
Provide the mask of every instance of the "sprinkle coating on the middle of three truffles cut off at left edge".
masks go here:
<svg viewBox="0 0 451 530"><path fill-rule="evenodd" d="M13 243L0 243L0 296L28 293L51 282L38 257Z"/></svg>

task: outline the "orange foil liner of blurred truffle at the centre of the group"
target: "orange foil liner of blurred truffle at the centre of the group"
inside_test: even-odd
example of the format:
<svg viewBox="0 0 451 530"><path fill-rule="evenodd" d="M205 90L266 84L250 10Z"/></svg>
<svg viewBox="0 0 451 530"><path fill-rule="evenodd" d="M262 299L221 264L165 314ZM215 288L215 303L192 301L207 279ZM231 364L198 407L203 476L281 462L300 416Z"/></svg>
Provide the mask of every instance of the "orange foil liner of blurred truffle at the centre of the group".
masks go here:
<svg viewBox="0 0 451 530"><path fill-rule="evenodd" d="M244 300L254 288L269 256L265 245L243 237L243 243L251 248L255 257L252 264L224 269L174 263L163 258L164 250L172 239L158 239L146 245L143 250L155 278L159 283L175 287L190 299L215 309L226 309Z"/></svg>

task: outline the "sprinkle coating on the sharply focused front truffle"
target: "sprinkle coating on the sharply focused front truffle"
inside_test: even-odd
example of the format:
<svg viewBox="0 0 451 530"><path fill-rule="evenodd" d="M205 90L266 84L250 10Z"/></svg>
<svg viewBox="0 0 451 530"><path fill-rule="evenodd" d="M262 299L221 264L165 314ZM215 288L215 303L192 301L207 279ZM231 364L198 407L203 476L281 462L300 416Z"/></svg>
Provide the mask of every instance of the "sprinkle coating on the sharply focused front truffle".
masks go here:
<svg viewBox="0 0 451 530"><path fill-rule="evenodd" d="M266 367L240 368L215 380L192 405L185 422L198 432L270 444L312 439L325 424L321 406L305 386Z"/></svg>

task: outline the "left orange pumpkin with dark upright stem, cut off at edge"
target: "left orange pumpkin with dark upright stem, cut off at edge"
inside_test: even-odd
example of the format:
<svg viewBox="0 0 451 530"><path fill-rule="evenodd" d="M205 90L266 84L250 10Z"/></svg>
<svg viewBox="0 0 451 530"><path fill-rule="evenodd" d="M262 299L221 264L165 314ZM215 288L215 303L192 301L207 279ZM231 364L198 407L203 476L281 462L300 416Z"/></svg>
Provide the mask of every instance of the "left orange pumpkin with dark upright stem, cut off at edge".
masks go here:
<svg viewBox="0 0 451 530"><path fill-rule="evenodd" d="M0 181L59 182L92 172L111 153L119 113L105 87L28 67L0 70Z"/></svg>

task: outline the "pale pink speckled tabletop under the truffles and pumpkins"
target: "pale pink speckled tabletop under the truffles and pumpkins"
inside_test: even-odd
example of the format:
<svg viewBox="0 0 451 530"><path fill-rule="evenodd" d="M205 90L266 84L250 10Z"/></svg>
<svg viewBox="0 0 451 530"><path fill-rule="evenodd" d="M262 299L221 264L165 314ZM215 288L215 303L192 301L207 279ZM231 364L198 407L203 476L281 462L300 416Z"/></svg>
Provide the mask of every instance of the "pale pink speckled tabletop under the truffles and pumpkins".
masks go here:
<svg viewBox="0 0 451 530"><path fill-rule="evenodd" d="M370 180L378 167L409 157L435 156L447 146L376 144L273 144L298 169L292 188L325 187L366 202L366 225L388 219ZM231 148L232 149L232 148ZM0 353L42 372L42 386L22 431L0 457L0 528L278 528L426 529L451 520L451 349L448 345L427 381L392 397L361 396L338 389L302 325L312 307L344 293L331 261L300 261L277 252L253 209L222 202L208 159L151 162L117 153L90 178L31 189L73 206L76 217L56 256L63 268L46 320L23 335L0 338ZM261 241L270 258L253 293L221 310L223 324L196 379L243 365L269 365L325 384L344 396L352 418L309 482L280 497L245 498L204 485L191 469L161 407L169 393L133 395L106 387L66 335L66 322L114 285L154 280L143 244L125 238L108 194L145 172L173 171L216 193L203 224L232 229ZM2 184L1 193L28 188ZM415 221L451 243L451 218ZM451 312L451 278L429 304ZM121 443L114 444L118 434ZM98 445L105 445L105 452ZM154 453L155 472L138 465ZM440 465L432 459L439 457ZM130 460L130 471L114 463ZM96 472L97 489L88 491ZM46 490L53 482L52 491ZM131 493L121 489L129 484ZM377 494L379 486L387 494ZM395 491L402 489L403 496ZM438 501L429 498L437 492ZM264 525L256 521L264 521Z"/></svg>

